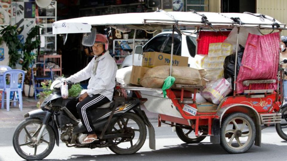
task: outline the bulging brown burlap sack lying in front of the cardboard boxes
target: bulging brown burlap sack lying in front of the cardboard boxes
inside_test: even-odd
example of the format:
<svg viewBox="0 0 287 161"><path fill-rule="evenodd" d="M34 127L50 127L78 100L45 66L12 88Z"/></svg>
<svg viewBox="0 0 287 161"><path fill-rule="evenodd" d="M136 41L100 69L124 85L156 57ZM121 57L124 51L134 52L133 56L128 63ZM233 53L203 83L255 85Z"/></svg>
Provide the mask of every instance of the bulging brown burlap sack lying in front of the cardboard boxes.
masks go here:
<svg viewBox="0 0 287 161"><path fill-rule="evenodd" d="M198 69L187 66L172 66L172 77L175 77L174 84L201 85L201 74ZM170 66L155 66L149 69L140 84L146 88L162 88L164 80L170 75Z"/></svg>

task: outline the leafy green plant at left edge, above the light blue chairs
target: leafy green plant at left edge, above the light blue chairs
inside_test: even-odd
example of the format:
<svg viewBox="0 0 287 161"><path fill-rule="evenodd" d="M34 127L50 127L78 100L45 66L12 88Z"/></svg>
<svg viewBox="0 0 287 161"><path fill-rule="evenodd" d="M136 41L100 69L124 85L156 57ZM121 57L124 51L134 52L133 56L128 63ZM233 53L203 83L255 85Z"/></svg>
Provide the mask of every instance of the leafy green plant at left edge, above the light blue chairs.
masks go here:
<svg viewBox="0 0 287 161"><path fill-rule="evenodd" d="M9 54L9 66L15 69L16 63L19 62L21 55L18 53L18 50L22 48L17 32L17 28L11 25L1 26L0 34L2 35L3 41L8 46Z"/></svg>

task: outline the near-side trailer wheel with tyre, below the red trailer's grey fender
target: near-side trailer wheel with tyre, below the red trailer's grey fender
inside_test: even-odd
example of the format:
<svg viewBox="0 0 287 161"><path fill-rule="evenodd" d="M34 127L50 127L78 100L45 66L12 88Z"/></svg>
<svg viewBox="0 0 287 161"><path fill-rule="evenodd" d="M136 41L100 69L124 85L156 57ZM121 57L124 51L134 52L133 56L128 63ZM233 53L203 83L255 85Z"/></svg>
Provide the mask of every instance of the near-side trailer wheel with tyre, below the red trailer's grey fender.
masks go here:
<svg viewBox="0 0 287 161"><path fill-rule="evenodd" d="M245 153L255 140L253 120L244 113L236 112L224 118L220 129L220 145L230 154Z"/></svg>

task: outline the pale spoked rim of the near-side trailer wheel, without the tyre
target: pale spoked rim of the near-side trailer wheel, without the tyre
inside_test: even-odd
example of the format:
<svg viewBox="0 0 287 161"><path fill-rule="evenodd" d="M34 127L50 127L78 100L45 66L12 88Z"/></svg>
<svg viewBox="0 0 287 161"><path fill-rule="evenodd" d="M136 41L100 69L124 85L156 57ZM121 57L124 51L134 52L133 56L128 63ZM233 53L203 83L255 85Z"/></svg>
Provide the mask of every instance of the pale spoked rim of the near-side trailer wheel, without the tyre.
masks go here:
<svg viewBox="0 0 287 161"><path fill-rule="evenodd" d="M242 122L242 124L238 126L237 122L239 120L240 122ZM230 124L233 124L232 129L227 128L227 126ZM230 148L234 150L240 150L248 146L248 143L251 141L253 131L251 129L250 123L245 118L242 117L233 118L232 120L229 121L227 126L225 127L225 141L227 142L227 145ZM248 128L248 131L246 131L246 127ZM248 137L248 139L242 142L242 140L240 139L243 137ZM238 147L233 146L234 143L236 143L239 146Z"/></svg>

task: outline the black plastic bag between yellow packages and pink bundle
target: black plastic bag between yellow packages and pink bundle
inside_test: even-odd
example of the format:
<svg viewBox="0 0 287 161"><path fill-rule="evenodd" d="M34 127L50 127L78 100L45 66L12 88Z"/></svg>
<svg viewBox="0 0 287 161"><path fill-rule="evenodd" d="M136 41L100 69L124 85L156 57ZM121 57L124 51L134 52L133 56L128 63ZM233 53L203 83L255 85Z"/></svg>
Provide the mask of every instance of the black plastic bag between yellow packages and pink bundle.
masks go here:
<svg viewBox="0 0 287 161"><path fill-rule="evenodd" d="M238 75L239 68L241 66L241 60L244 52L244 47L239 44L239 50L237 53L237 66L236 66L236 76ZM232 89L234 86L234 71L235 71L235 58L236 53L233 53L232 55L229 55L225 58L223 68L224 68L224 78L230 78L231 77L231 85Z"/></svg>

